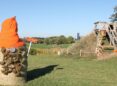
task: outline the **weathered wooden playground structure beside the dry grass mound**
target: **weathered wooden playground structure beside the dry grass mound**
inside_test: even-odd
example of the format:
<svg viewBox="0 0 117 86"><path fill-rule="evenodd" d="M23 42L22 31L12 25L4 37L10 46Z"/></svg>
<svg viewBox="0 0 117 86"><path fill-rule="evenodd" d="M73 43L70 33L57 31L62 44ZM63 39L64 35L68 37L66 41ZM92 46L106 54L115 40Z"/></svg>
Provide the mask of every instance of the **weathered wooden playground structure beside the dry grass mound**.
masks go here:
<svg viewBox="0 0 117 86"><path fill-rule="evenodd" d="M96 22L94 23L94 31L97 38L95 51L97 56L104 55L105 47L111 47L114 52L117 52L117 22ZM107 41L105 42L105 40Z"/></svg>

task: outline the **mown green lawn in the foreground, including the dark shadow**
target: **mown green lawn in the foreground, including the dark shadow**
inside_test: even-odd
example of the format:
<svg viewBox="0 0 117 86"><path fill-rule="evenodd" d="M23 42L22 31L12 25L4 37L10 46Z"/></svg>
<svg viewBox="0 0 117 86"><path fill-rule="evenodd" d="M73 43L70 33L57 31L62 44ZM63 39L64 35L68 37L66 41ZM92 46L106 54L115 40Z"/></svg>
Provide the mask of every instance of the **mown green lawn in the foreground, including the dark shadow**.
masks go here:
<svg viewBox="0 0 117 86"><path fill-rule="evenodd" d="M117 59L29 56L26 86L117 86Z"/></svg>

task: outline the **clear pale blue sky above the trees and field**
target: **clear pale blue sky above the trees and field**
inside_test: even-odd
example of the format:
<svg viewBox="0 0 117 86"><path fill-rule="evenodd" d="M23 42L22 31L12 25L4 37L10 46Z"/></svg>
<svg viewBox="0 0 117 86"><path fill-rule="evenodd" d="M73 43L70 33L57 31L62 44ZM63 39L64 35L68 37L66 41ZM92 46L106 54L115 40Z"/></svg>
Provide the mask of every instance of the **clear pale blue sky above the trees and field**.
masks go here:
<svg viewBox="0 0 117 86"><path fill-rule="evenodd" d="M110 21L117 0L0 0L1 23L16 16L21 37L84 36Z"/></svg>

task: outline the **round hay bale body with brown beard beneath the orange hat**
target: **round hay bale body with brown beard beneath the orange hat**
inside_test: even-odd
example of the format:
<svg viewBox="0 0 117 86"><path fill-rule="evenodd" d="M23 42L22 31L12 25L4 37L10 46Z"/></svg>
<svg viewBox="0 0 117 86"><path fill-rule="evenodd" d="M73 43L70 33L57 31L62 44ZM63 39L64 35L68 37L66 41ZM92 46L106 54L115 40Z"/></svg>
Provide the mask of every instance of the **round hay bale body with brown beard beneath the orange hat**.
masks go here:
<svg viewBox="0 0 117 86"><path fill-rule="evenodd" d="M27 49L0 48L0 85L23 86L27 77Z"/></svg>

